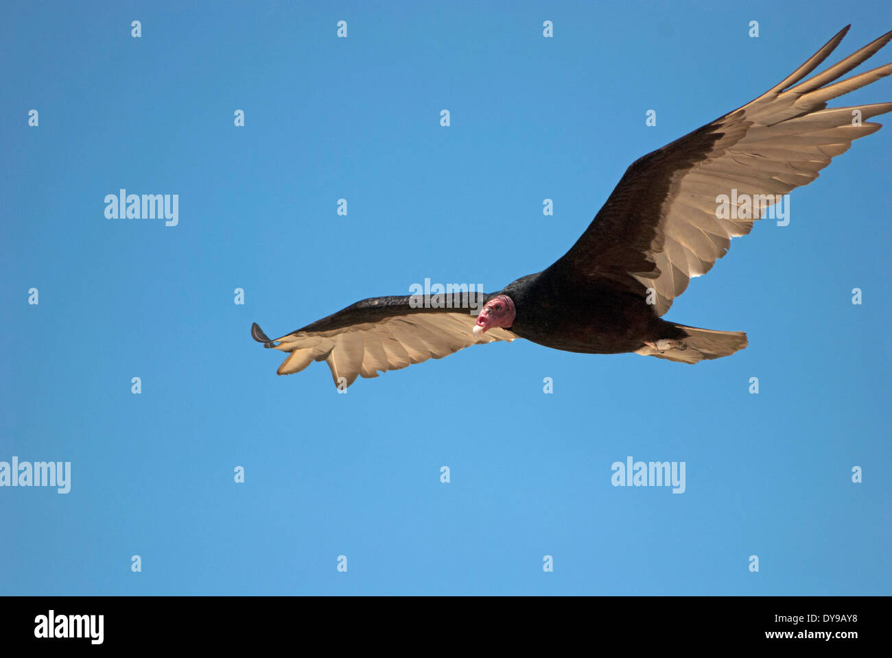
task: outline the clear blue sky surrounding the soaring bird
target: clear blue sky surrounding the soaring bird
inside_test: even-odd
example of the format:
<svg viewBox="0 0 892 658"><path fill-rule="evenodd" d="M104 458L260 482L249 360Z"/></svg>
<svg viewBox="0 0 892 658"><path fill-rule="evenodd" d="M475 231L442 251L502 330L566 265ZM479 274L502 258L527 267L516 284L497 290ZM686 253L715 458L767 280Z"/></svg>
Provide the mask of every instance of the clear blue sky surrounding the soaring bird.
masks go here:
<svg viewBox="0 0 892 658"><path fill-rule="evenodd" d="M889 127L675 302L731 358L515 341L339 395L249 336L547 267L632 160L892 29L838 6L5 3L0 461L71 489L0 489L0 593L888 594ZM613 487L627 456L684 493Z"/></svg>

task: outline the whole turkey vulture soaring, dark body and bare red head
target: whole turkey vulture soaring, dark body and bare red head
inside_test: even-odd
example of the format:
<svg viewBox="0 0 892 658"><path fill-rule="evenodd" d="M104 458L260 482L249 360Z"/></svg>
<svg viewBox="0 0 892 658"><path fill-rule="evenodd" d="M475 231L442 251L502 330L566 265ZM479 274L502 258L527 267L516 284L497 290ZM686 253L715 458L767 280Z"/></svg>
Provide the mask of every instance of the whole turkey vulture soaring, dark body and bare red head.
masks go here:
<svg viewBox="0 0 892 658"><path fill-rule="evenodd" d="M886 45L892 32L802 81L849 27L755 101L635 160L582 237L548 269L481 293L476 303L463 290L424 299L375 297L274 341L255 323L252 337L289 353L278 374L325 360L339 389L360 374L376 377L474 343L516 338L556 350L636 352L681 363L742 350L746 333L662 316L690 277L706 274L731 237L749 233L772 200L808 185L852 140L880 129L861 119L892 110L892 103L826 107L892 73L886 64L834 82ZM720 211L716 204L729 197L731 213Z"/></svg>

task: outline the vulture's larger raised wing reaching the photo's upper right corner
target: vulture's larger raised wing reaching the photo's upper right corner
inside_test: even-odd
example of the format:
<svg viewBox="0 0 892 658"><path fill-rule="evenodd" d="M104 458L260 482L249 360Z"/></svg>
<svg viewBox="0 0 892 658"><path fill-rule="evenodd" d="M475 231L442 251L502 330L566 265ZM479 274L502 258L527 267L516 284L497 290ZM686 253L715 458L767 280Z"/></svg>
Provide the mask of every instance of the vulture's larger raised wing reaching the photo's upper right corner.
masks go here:
<svg viewBox="0 0 892 658"><path fill-rule="evenodd" d="M892 32L800 82L847 31L752 103L633 162L582 237L551 268L574 279L606 278L639 294L653 288L663 315L691 277L706 274L724 256L732 236L752 230L760 207L808 185L852 140L880 129L863 119L892 110L892 103L825 108L830 99L892 73L886 64L830 84L886 45ZM738 207L723 213L721 195L738 199Z"/></svg>

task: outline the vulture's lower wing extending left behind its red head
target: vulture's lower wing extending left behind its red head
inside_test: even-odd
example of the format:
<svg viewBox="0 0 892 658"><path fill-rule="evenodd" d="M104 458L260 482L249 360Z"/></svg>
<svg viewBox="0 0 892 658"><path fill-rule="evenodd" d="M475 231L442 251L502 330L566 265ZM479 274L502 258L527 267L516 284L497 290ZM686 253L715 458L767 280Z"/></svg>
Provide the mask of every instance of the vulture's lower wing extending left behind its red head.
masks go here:
<svg viewBox="0 0 892 658"><path fill-rule="evenodd" d="M482 308L485 300L475 308ZM335 386L350 386L359 375L377 377L379 371L443 358L476 342L517 337L492 328L475 338L476 317L467 302L467 293L434 295L426 304L421 296L373 297L272 341L256 323L251 335L264 347L290 352L278 374L299 373L313 361L326 361Z"/></svg>

